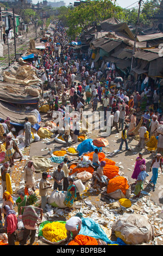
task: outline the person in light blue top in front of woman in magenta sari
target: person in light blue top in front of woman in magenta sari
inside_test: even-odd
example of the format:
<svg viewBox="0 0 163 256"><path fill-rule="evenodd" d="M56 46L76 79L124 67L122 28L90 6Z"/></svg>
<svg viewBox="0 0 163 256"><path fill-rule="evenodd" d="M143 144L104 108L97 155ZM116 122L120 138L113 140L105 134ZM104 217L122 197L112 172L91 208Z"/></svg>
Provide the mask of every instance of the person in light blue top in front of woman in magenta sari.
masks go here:
<svg viewBox="0 0 163 256"><path fill-rule="evenodd" d="M146 172L146 166L144 164L141 164L140 166L141 172L137 176L136 185L135 185L135 191L134 194L136 197L140 197L140 193L143 190L143 185L145 184L146 177L149 176Z"/></svg>

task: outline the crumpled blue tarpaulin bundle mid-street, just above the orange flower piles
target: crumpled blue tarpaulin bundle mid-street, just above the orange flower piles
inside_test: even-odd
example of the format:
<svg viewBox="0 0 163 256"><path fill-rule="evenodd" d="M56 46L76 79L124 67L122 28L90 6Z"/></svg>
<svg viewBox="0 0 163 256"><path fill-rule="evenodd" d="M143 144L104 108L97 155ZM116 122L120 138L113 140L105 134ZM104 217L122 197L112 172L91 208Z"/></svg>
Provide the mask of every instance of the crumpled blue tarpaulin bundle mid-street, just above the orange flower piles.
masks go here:
<svg viewBox="0 0 163 256"><path fill-rule="evenodd" d="M79 156L81 156L83 153L87 153L88 151L95 151L95 149L102 151L102 148L93 145L93 139L85 139L85 141L81 142L77 147L77 150L79 151Z"/></svg>

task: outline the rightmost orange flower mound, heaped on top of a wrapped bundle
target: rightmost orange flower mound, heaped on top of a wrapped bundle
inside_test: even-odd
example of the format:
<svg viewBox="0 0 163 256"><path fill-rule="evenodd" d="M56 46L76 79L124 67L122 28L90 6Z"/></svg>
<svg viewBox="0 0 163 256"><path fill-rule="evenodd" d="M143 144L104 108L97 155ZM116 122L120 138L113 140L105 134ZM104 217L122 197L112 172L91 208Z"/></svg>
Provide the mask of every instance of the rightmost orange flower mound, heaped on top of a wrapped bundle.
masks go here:
<svg viewBox="0 0 163 256"><path fill-rule="evenodd" d="M123 176L116 176L108 182L107 193L115 192L116 190L121 190L124 195L126 195L126 190L128 190L129 185L127 179Z"/></svg>

